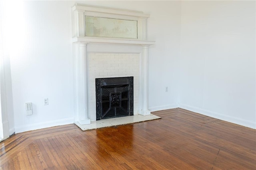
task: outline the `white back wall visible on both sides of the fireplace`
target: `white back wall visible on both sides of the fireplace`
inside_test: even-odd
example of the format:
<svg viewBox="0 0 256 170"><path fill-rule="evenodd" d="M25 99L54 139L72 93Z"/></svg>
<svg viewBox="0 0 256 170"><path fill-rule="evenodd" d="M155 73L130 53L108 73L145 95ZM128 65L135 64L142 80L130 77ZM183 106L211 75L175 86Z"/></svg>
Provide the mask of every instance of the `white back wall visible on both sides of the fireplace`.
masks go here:
<svg viewBox="0 0 256 170"><path fill-rule="evenodd" d="M18 43L12 44L10 55L16 132L74 122L70 21L70 7L74 3L24 1L19 6L22 9L19 24L11 36ZM156 40L156 45L149 51L149 107L152 110L177 107L178 75L175 70L180 51L180 2L79 3L151 14L148 39ZM166 86L169 92L165 92ZM48 98L49 105L43 105L44 98ZM26 102L32 102L33 115L26 115Z"/></svg>

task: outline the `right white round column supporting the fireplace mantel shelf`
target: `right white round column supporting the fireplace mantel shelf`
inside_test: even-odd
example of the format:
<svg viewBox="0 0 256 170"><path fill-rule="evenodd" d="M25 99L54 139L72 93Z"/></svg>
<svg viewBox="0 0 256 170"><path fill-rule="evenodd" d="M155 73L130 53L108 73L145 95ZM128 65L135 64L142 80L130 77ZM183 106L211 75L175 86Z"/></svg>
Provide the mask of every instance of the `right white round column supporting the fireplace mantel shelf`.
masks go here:
<svg viewBox="0 0 256 170"><path fill-rule="evenodd" d="M142 45L142 110L140 115L150 115L148 110L148 46Z"/></svg>

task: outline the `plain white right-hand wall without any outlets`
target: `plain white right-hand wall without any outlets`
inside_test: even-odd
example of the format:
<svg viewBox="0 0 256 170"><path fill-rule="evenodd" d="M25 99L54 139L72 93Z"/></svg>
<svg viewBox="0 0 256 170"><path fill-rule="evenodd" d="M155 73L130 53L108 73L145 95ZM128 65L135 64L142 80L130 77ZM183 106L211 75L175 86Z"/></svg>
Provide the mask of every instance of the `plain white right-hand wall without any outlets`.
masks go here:
<svg viewBox="0 0 256 170"><path fill-rule="evenodd" d="M182 1L180 107L256 128L255 2Z"/></svg>

